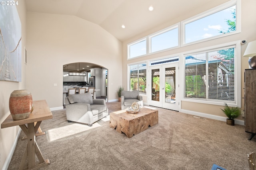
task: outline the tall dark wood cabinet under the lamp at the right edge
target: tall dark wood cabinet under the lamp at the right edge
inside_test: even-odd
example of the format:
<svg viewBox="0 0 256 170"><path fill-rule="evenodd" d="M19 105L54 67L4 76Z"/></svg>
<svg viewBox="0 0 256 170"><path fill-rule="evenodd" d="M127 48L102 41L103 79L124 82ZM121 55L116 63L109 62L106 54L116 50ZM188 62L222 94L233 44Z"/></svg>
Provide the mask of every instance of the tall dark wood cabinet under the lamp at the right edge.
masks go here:
<svg viewBox="0 0 256 170"><path fill-rule="evenodd" d="M248 140L256 134L256 70L244 71L244 125L245 131L252 133Z"/></svg>

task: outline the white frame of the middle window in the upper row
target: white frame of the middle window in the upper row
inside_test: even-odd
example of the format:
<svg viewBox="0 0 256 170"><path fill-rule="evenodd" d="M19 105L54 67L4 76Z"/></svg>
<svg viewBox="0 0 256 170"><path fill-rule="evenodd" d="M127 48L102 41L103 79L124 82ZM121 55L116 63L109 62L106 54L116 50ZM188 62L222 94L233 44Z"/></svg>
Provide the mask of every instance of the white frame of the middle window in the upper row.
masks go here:
<svg viewBox="0 0 256 170"><path fill-rule="evenodd" d="M151 39L152 37L156 37L162 33L166 33L168 31L171 31L173 29L176 29L178 28L178 45L175 46L175 47L170 47L170 48L167 48L167 49L162 49L162 50L159 50L159 51L154 51L154 52L151 52L151 47L152 47L152 44L151 44ZM176 23L170 27L167 27L165 29L162 29L160 31L157 31L155 33L152 33L150 35L148 35L148 53L149 54L154 54L154 53L160 53L160 52L163 52L163 51L167 51L167 50L171 50L171 49L176 49L176 48L179 48L180 47L180 22L179 23Z"/></svg>

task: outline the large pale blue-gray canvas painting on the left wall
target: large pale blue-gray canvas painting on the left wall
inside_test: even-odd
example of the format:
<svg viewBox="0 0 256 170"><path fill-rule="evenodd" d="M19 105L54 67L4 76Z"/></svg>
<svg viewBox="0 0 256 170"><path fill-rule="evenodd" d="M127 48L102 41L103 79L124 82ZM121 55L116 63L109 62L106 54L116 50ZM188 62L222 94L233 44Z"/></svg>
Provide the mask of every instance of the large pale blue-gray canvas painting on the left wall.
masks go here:
<svg viewBox="0 0 256 170"><path fill-rule="evenodd" d="M16 6L0 6L0 80L21 82L21 22Z"/></svg>

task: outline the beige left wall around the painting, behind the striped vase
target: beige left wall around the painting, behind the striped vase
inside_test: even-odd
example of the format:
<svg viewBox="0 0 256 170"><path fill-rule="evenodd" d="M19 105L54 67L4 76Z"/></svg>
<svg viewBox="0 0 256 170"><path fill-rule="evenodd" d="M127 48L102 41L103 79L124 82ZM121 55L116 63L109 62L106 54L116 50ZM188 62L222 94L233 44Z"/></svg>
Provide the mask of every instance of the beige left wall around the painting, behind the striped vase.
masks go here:
<svg viewBox="0 0 256 170"><path fill-rule="evenodd" d="M26 46L26 6L24 1L19 1L16 6L22 26L22 75L21 82L0 81L0 123L2 123L8 115L9 98L14 90L26 89L26 64L24 64L24 47ZM0 129L0 169L3 168L6 158L10 156L14 140L20 130L19 126L7 127Z"/></svg>

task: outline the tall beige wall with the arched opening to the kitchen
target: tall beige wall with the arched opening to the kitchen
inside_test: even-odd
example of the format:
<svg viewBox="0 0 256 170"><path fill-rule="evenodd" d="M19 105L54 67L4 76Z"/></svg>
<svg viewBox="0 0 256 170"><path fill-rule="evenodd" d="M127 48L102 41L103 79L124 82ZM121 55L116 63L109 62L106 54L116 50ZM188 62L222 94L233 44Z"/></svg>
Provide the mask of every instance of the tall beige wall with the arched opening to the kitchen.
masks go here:
<svg viewBox="0 0 256 170"><path fill-rule="evenodd" d="M122 80L122 43L99 25L76 16L27 13L27 89L33 100L62 107L63 65L95 63L108 69L108 100ZM114 65L114 67L113 67ZM57 84L57 86L53 86Z"/></svg>

